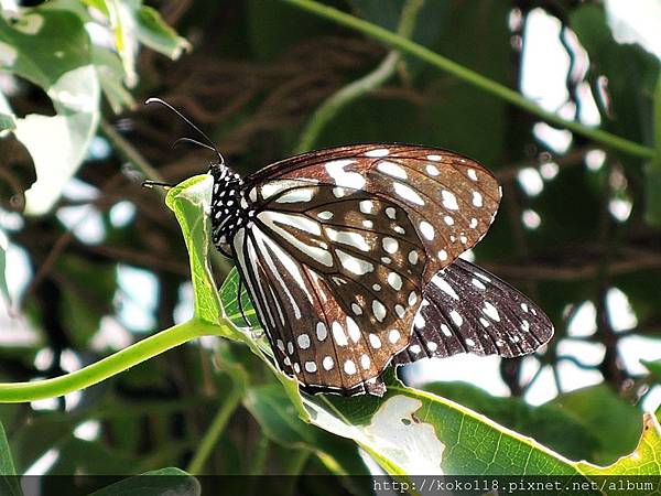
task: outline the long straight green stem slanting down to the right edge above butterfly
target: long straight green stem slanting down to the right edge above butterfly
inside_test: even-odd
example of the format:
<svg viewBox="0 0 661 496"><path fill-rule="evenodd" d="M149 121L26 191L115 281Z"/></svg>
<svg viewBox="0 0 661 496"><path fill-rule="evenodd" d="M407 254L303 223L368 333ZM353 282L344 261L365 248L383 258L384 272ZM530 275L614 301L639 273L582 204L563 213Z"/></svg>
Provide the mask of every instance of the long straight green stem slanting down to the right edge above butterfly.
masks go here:
<svg viewBox="0 0 661 496"><path fill-rule="evenodd" d="M513 89L510 89L507 86L501 85L500 83L489 79L488 77L485 77L481 74L476 73L475 71L464 67L463 65L457 64L456 62L453 62L449 58L444 57L443 55L438 55L437 53L434 53L431 50L412 42L411 40L408 40L399 34L384 30L383 28L375 25L362 19L358 19L354 15L342 12L340 10L337 10L333 7L323 6L313 0L282 1L294 4L315 15L329 19L338 24L342 24L346 28L350 28L355 31L379 40L390 46L399 48L402 52L411 54L422 61L430 63L431 65L433 65L436 68L440 68L441 71L452 74L453 76L458 77L459 79L468 84L472 84L517 107L522 108L523 110L530 114L538 116L546 122L570 129L571 131L577 134L582 134L585 138L588 138L595 142L602 143L605 147L609 147L611 149L619 150L635 157L640 157L643 159L653 159L655 157L655 151L649 147L644 147L640 143L627 140L625 138L620 138L616 134L611 134L610 132L603 131L600 129L594 129L584 126L579 122L565 120L553 112L544 110L539 105L527 99Z"/></svg>

